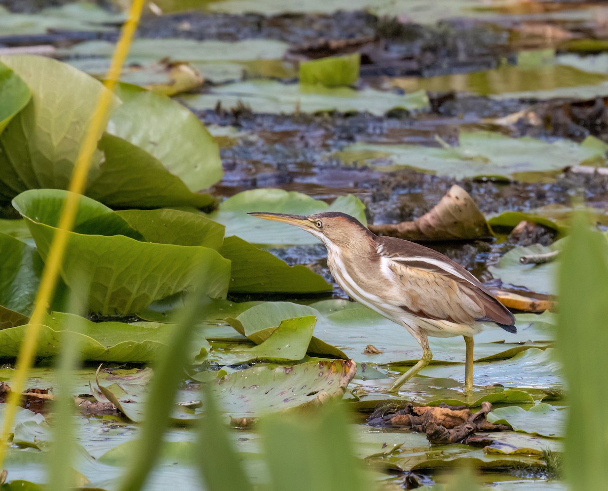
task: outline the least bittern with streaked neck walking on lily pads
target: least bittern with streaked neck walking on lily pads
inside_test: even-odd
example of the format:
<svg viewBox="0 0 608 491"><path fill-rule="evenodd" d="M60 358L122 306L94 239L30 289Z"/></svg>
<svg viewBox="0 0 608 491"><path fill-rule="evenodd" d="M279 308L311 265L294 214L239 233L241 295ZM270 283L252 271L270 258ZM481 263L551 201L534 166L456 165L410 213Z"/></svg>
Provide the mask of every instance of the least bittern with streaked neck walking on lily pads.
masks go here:
<svg viewBox="0 0 608 491"><path fill-rule="evenodd" d="M390 391L398 391L429 364L433 354L428 336L465 338L465 390L469 391L473 335L485 323L517 332L513 314L475 276L428 247L379 237L344 213L249 215L295 225L320 239L336 283L354 300L406 328L420 343L422 358L395 380Z"/></svg>

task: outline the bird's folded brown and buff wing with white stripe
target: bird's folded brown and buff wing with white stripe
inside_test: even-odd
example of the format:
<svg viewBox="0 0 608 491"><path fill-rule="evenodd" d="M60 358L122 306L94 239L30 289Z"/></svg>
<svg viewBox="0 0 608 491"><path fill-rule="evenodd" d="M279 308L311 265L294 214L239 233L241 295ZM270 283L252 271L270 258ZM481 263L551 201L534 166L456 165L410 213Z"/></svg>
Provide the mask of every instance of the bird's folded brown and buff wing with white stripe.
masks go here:
<svg viewBox="0 0 608 491"><path fill-rule="evenodd" d="M405 292L404 310L457 323L495 322L514 332L513 314L460 264L409 241L379 237L378 244Z"/></svg>

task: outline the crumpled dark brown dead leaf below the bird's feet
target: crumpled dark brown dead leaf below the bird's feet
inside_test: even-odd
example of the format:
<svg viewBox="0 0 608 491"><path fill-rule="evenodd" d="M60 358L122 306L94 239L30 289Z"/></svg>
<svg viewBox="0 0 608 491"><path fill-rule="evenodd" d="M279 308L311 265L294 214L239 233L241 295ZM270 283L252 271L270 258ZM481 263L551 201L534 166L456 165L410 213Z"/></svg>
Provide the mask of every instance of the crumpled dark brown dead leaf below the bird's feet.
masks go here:
<svg viewBox="0 0 608 491"><path fill-rule="evenodd" d="M448 406L445 403L436 407L414 406L409 403L401 410L370 419L368 425L411 427L414 431L426 433L426 438L432 444L458 443L475 431L509 429L505 425L488 422L486 416L491 409L489 402L482 402L482 408L477 413L471 413L471 409L465 406Z"/></svg>

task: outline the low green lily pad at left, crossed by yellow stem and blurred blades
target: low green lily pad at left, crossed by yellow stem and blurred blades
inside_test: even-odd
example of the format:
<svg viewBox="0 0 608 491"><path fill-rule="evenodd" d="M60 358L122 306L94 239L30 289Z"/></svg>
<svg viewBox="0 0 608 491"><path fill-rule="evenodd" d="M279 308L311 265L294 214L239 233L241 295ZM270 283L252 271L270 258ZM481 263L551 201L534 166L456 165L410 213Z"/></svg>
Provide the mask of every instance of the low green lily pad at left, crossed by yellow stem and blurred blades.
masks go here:
<svg viewBox="0 0 608 491"><path fill-rule="evenodd" d="M126 324L92 322L74 314L53 312L42 321L38 332L36 357L52 357L59 353L62 342L79 347L82 360L100 362L150 362L164 351L173 334L173 325L158 323ZM77 328L78 327L78 328ZM0 330L0 357L19 354L27 326ZM210 345L202 335L192 343L192 355L206 354Z"/></svg>

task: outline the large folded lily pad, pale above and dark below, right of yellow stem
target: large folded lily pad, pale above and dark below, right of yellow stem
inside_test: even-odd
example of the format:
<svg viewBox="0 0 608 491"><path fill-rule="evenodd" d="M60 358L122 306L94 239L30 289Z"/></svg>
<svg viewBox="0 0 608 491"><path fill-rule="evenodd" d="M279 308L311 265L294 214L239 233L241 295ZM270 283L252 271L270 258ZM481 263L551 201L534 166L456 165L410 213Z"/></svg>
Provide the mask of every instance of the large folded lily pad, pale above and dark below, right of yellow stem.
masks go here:
<svg viewBox="0 0 608 491"><path fill-rule="evenodd" d="M209 131L165 95L128 84L121 84L116 94L123 103L112 113L108 135L100 142L105 162L88 193L120 207L209 205L212 198L196 191L223 176L218 145Z"/></svg>

